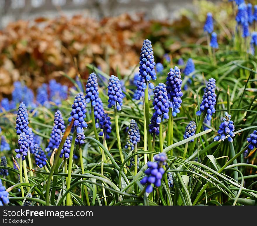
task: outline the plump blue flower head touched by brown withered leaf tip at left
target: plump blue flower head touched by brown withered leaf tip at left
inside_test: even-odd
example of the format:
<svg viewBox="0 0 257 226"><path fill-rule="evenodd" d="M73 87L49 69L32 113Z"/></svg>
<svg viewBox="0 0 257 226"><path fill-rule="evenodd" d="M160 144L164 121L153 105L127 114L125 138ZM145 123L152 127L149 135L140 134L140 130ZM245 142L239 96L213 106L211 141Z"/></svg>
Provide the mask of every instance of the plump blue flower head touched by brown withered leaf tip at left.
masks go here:
<svg viewBox="0 0 257 226"><path fill-rule="evenodd" d="M81 128L87 127L84 120L86 118L86 100L82 92L78 93L75 97L70 115L68 121L71 122L72 118L74 118L73 126L77 127L77 133L81 133ZM81 125L81 127L79 127L79 125Z"/></svg>

